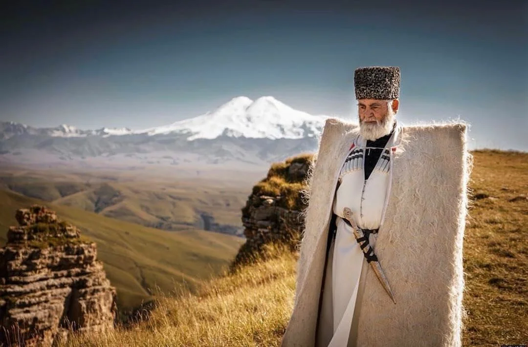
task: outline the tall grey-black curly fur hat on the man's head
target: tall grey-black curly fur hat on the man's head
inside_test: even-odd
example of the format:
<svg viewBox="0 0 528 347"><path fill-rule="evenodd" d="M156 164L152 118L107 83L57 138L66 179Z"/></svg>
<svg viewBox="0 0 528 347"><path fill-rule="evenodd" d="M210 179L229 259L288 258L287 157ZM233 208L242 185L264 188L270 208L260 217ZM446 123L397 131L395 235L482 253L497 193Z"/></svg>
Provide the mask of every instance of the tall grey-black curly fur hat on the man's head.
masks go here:
<svg viewBox="0 0 528 347"><path fill-rule="evenodd" d="M354 71L356 99L398 99L400 79L400 68L397 66L357 68Z"/></svg>

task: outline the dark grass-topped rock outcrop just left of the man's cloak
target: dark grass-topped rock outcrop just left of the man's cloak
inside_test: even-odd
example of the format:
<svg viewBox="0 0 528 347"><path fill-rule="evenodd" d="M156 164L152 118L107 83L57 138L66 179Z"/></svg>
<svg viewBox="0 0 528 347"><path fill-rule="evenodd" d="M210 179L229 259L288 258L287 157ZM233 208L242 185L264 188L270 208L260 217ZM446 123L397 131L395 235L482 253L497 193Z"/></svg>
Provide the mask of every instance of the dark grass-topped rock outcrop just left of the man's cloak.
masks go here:
<svg viewBox="0 0 528 347"><path fill-rule="evenodd" d="M313 155L305 154L274 163L265 179L253 187L242 208L244 243L232 268L263 255L263 246L278 243L297 249L306 208L304 192Z"/></svg>

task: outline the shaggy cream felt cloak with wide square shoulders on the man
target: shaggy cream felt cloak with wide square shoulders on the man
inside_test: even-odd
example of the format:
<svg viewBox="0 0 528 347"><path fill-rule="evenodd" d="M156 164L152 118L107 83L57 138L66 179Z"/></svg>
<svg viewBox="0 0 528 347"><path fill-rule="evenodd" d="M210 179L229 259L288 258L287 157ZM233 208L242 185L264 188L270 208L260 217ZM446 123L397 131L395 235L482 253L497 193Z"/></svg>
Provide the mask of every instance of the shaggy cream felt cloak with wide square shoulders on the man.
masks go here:
<svg viewBox="0 0 528 347"><path fill-rule="evenodd" d="M319 138L315 164L308 171L295 303L281 346L326 347L332 338L331 314L320 310L319 317L323 297L331 297L323 291L332 292L326 278L332 271L332 260L326 261L328 229L338 174L358 134L357 124L329 118ZM363 294L354 313L358 323L351 334L356 338L349 343L460 346L471 166L466 125L404 126L395 147L388 205L374 248L396 304L370 266L363 266Z"/></svg>

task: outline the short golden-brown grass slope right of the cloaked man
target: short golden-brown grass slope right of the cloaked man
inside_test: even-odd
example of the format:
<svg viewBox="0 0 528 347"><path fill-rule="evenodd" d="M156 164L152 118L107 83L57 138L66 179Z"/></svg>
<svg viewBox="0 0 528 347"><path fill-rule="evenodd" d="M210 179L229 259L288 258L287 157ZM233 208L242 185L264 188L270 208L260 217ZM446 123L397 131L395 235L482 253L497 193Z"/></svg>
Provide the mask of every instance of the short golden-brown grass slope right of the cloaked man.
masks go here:
<svg viewBox="0 0 528 347"><path fill-rule="evenodd" d="M464 345L528 343L528 153L476 151L464 238Z"/></svg>

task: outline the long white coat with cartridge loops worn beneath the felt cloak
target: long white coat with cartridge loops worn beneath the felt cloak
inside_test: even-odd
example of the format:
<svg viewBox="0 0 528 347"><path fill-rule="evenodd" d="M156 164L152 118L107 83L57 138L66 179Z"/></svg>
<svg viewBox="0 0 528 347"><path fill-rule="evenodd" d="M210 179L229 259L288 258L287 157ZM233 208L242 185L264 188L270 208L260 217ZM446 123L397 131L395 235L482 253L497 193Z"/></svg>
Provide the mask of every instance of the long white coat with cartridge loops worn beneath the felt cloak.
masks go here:
<svg viewBox="0 0 528 347"><path fill-rule="evenodd" d="M330 332L321 334L322 343L328 347L355 345L355 335L352 333L348 343L351 327L357 325L353 322L356 299L360 290L360 276L363 267L369 266L366 262L360 245L357 243L352 228L342 218L343 208L352 210L357 226L363 229L378 229L386 208L386 197L390 182L390 163L392 149L396 148L399 124L395 128L389 141L385 144L376 165L365 180L365 157L369 148L366 140L359 136L352 144L347 155L347 160L341 168L338 188L334 197L333 213L336 219L337 233L335 242L332 243L329 254L332 259L332 299L323 300L322 310L332 312L334 331L332 340L328 343ZM370 245L375 249L376 236L370 235ZM381 285L381 284L380 284ZM361 296L360 296L361 297ZM325 317L326 319L326 317ZM357 313L356 313L357 320Z"/></svg>

